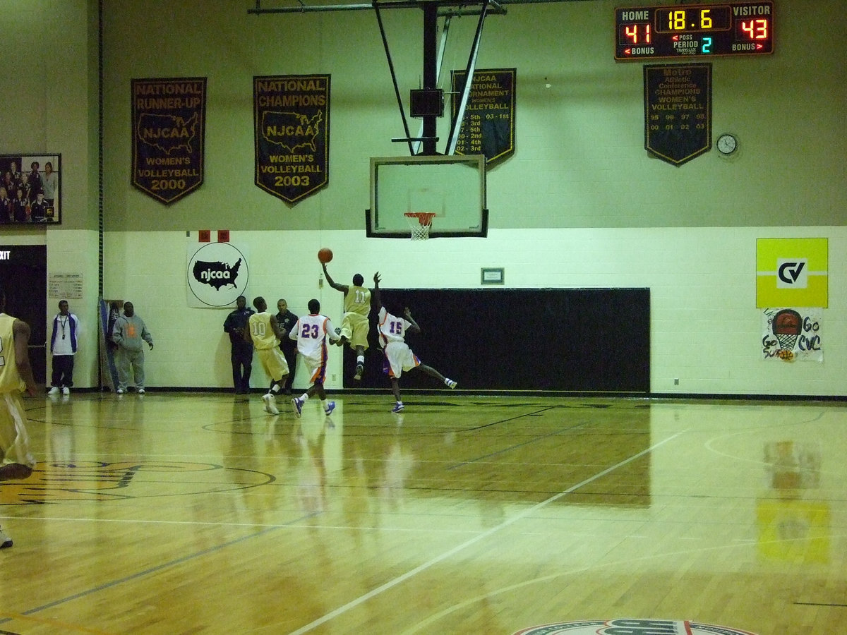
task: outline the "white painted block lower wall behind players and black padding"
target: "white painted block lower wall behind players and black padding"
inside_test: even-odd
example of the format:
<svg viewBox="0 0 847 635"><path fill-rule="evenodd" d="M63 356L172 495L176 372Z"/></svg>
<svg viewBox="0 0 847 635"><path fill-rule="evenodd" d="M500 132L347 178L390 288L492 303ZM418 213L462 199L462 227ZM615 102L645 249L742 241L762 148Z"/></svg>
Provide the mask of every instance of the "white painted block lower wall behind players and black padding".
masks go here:
<svg viewBox="0 0 847 635"><path fill-rule="evenodd" d="M316 297L335 321L341 294L319 285L320 246L335 253L329 273L337 282L348 282L353 273L369 282L379 271L386 289L476 288L480 268L489 267L505 268L507 286L517 288L649 287L653 393L847 395L843 285L830 284L823 310L824 362L761 359L756 239L764 237L826 237L833 255L847 246L847 229L833 227L492 229L487 239L425 242L368 239L363 231L239 231L230 240L249 246L248 301L263 295L274 306L285 297L299 315ZM196 233L108 233L105 295L133 301L152 331L149 386L227 388L228 310L186 308L186 240L196 241ZM832 256L830 279L845 275L847 263ZM567 325L561 326L567 337ZM340 387L340 364L334 349L330 389ZM258 365L254 373L252 384L266 385Z"/></svg>

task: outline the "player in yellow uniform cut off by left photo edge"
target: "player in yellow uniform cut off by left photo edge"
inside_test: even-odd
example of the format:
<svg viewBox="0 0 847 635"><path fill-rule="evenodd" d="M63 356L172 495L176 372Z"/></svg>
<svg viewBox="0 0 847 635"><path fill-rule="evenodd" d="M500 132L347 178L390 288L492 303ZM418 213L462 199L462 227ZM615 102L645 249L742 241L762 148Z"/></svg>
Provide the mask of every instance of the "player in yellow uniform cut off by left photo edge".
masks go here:
<svg viewBox="0 0 847 635"><path fill-rule="evenodd" d="M38 391L27 349L30 326L5 310L6 292L0 287L0 481L27 478L36 465L20 400L24 390L30 397ZM0 529L0 549L11 546L12 539Z"/></svg>

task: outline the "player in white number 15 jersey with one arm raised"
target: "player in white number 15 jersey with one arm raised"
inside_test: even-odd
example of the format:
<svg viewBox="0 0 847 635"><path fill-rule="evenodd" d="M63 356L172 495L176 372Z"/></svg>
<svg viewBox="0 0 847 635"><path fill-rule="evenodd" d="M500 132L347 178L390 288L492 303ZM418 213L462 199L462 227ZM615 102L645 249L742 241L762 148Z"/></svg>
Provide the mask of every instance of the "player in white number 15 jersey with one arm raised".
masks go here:
<svg viewBox="0 0 847 635"><path fill-rule="evenodd" d="M444 382L447 388L456 388L456 382L446 378L435 368L421 363L418 356L407 345L406 334L420 333L421 328L415 322L408 307L403 311L403 317L396 317L391 315L385 309L385 306L382 306L382 298L379 295L379 272L374 273L374 309L379 314L377 317L379 345L382 346L383 351L385 351L385 358L388 360L388 378L391 382L391 392L394 393L394 398L397 401L391 409L392 412L401 412L404 409L403 401L400 398L399 381L403 371L420 368L430 377Z"/></svg>

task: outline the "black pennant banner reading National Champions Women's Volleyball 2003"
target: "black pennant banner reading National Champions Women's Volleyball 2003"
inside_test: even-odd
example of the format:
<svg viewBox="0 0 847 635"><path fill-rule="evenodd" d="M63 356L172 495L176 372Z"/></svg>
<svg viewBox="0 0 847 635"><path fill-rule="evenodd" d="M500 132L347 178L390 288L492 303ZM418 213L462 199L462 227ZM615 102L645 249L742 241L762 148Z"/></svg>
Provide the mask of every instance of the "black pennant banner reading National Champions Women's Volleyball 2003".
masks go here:
<svg viewBox="0 0 847 635"><path fill-rule="evenodd" d="M329 75L253 78L256 185L294 203L329 182Z"/></svg>

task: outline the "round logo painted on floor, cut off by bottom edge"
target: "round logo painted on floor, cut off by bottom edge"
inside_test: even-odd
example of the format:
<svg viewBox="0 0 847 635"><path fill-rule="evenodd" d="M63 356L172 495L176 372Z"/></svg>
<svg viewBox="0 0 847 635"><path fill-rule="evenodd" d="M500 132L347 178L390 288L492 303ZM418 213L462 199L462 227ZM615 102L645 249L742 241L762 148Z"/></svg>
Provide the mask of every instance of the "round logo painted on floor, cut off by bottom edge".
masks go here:
<svg viewBox="0 0 847 635"><path fill-rule="evenodd" d="M634 620L567 621L526 628L514 635L756 635L734 628L696 624L693 621Z"/></svg>

